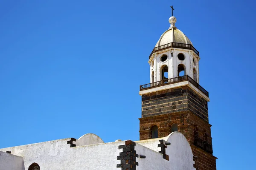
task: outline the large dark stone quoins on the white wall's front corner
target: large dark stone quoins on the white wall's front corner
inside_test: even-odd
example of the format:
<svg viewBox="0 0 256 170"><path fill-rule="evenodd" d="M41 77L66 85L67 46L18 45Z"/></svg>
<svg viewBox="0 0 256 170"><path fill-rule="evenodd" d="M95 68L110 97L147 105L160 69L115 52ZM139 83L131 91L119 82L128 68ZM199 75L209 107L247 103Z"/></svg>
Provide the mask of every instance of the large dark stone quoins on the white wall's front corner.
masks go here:
<svg viewBox="0 0 256 170"><path fill-rule="evenodd" d="M120 164L116 164L117 168L122 168L121 170L136 170L136 166L139 163L136 161L136 157L138 158L139 155L136 154L135 150L136 143L128 140L125 141L125 145L119 145L118 149L122 149L119 156L117 156L117 160L120 160Z"/></svg>

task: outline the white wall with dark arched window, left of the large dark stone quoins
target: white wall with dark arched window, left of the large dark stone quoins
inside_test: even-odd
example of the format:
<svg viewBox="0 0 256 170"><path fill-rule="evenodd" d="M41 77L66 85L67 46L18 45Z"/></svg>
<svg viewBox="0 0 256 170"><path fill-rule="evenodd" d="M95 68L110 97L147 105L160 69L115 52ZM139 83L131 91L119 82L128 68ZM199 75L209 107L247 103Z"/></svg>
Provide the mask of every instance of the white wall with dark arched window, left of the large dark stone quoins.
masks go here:
<svg viewBox="0 0 256 170"><path fill-rule="evenodd" d="M25 170L37 163L40 170L114 170L120 161L119 145L125 142L111 142L78 147L70 147L68 139L28 144L0 149L4 152L23 156ZM1 170L1 169L0 169Z"/></svg>

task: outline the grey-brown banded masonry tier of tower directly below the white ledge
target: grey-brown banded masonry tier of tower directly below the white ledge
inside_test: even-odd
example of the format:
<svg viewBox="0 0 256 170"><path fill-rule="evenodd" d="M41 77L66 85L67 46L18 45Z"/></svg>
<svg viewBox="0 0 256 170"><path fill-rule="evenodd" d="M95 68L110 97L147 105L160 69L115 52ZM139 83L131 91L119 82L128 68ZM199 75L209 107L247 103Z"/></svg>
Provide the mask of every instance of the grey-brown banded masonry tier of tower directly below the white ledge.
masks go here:
<svg viewBox="0 0 256 170"><path fill-rule="evenodd" d="M207 101L188 86L142 95L142 117L188 110L208 122Z"/></svg>

